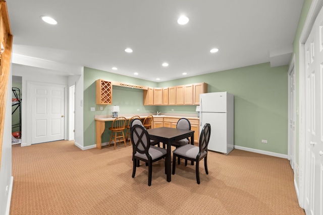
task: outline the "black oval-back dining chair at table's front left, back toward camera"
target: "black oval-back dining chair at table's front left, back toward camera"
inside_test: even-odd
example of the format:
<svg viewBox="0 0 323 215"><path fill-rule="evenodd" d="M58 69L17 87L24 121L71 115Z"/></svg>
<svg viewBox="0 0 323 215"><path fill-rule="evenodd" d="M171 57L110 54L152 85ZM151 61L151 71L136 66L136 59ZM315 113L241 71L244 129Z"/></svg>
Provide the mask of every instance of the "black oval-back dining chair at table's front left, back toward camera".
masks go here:
<svg viewBox="0 0 323 215"><path fill-rule="evenodd" d="M148 165L148 186L151 185L152 163L166 158L167 150L150 146L150 138L147 129L140 124L134 124L130 130L132 142L132 177L135 177L137 161L143 161ZM165 174L167 159L165 159Z"/></svg>

